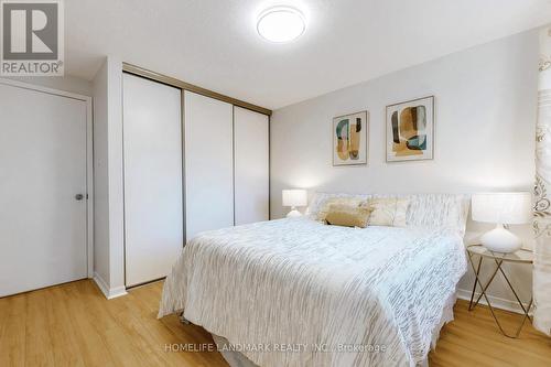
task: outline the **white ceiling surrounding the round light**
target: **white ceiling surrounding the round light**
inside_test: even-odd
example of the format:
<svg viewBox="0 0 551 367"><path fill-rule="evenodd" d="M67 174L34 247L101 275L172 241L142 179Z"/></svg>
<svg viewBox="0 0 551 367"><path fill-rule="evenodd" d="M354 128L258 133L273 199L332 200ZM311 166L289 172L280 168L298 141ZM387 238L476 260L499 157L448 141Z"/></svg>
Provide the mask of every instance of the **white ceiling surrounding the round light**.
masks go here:
<svg viewBox="0 0 551 367"><path fill-rule="evenodd" d="M256 17L281 3L306 32L268 43ZM276 109L550 21L551 0L65 0L65 65L116 55Z"/></svg>

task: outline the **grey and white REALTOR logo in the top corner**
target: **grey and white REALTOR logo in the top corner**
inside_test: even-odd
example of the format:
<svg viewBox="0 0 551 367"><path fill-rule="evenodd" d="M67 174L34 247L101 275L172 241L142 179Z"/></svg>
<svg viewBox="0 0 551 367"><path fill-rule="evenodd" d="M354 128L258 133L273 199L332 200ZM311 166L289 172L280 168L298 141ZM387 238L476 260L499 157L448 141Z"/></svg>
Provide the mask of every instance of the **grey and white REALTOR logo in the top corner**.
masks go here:
<svg viewBox="0 0 551 367"><path fill-rule="evenodd" d="M1 0L0 19L0 75L63 75L63 0Z"/></svg>

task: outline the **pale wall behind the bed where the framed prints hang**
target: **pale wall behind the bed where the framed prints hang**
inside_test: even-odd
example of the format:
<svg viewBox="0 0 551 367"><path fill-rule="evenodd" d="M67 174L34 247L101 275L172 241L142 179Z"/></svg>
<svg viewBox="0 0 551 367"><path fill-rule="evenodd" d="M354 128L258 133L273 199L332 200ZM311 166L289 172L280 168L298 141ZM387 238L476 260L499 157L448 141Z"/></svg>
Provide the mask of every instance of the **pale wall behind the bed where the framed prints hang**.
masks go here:
<svg viewBox="0 0 551 367"><path fill-rule="evenodd" d="M354 55L345 55L354 57ZM281 190L349 193L531 191L534 176L538 32L529 31L292 105L271 118L271 215ZM307 71L304 71L307 73ZM331 77L331 73L327 73ZM434 160L386 163L385 107L435 96ZM367 166L332 166L332 119L368 110ZM485 226L469 224L467 230ZM531 246L529 226L518 226ZM512 282L529 296L531 270ZM465 277L462 289L472 288ZM495 296L512 300L496 283Z"/></svg>

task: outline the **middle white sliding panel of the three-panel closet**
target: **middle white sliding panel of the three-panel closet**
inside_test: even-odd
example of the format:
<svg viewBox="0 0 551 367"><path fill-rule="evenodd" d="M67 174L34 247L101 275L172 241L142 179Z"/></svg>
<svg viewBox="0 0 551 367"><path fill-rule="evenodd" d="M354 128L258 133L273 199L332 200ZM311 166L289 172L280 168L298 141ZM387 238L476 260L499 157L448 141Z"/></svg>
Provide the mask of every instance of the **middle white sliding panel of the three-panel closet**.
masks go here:
<svg viewBox="0 0 551 367"><path fill-rule="evenodd" d="M184 91L185 229L234 225L233 106Z"/></svg>

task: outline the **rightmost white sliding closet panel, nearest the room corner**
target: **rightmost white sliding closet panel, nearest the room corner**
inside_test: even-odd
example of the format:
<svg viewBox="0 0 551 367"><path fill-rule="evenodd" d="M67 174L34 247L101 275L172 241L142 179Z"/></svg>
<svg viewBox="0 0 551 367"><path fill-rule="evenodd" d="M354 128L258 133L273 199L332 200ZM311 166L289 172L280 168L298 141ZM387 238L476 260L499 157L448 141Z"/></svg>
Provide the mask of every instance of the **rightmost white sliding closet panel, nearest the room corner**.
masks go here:
<svg viewBox="0 0 551 367"><path fill-rule="evenodd" d="M268 116L234 109L236 225L269 219Z"/></svg>

